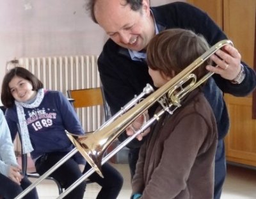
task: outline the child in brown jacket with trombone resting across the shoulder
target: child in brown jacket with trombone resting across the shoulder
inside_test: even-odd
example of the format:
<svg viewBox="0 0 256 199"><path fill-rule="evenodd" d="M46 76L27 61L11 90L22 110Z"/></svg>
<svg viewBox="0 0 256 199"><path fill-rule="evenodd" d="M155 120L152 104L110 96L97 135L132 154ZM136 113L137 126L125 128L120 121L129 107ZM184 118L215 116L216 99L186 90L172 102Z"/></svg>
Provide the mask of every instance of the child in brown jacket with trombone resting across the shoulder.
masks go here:
<svg viewBox="0 0 256 199"><path fill-rule="evenodd" d="M192 31L168 29L156 35L147 47L154 86L163 86L208 48ZM206 73L205 65L195 70L198 78ZM136 164L132 198L212 198L216 144L214 114L196 88L173 115L165 113L152 127Z"/></svg>

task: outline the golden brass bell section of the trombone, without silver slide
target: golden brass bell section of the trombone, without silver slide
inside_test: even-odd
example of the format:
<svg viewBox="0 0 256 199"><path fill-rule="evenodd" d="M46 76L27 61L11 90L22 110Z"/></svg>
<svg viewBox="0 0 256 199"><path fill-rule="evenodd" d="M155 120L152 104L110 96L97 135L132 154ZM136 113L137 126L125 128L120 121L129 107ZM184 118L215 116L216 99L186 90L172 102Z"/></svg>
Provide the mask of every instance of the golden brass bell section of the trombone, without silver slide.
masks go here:
<svg viewBox="0 0 256 199"><path fill-rule="evenodd" d="M67 133L68 138L74 143L79 152L84 156L86 161L91 164L99 175L102 157L106 152L109 145L134 121L134 118L138 118L141 113L145 112L150 106L161 99L166 93L170 96L171 104L174 106L180 106L180 100L187 95L191 90L194 90L206 79L208 79L212 73L207 74L207 78L203 78L203 81L196 83L196 76L192 72L199 67L205 60L211 56L217 49L225 44L231 44L228 40L219 42L214 45L209 51L205 52L200 58L197 58L191 65L186 67L177 76L173 77L168 83L157 89L149 97L141 101L138 105L130 109L124 115L116 118L111 124L107 125L103 129L99 129L92 134L86 134L84 136L77 136ZM175 93L184 83L189 83L188 86L182 88L179 93ZM163 103L162 103L163 104ZM169 109L170 104L166 104L166 108Z"/></svg>

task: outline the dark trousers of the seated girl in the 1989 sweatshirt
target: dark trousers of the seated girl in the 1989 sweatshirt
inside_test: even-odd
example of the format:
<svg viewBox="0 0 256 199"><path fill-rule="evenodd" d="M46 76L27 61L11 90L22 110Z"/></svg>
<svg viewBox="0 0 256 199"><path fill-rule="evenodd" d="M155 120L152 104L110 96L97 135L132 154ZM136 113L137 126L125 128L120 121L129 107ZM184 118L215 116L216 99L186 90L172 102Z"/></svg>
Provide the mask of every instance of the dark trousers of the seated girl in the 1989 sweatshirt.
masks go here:
<svg viewBox="0 0 256 199"><path fill-rule="evenodd" d="M66 154L67 153L54 152L44 155L36 161L36 171L40 175L43 175L45 171L49 170ZM90 164L87 163L83 173L90 168ZM83 173L80 171L76 161L74 161L74 159L71 157L70 159L68 159L68 161L63 163L60 168L52 172L50 176L58 180L64 189L67 189L77 179L79 179L83 175ZM94 172L89 177L90 180L92 180L93 182L97 182L97 184L102 187L97 196L97 199L116 199L123 186L122 175L108 163L102 165L102 174L104 175L104 179L102 179L102 177L100 177L96 172ZM84 196L85 188L86 182L84 181L79 184L79 186L70 191L70 193L65 196L65 199L82 199Z"/></svg>

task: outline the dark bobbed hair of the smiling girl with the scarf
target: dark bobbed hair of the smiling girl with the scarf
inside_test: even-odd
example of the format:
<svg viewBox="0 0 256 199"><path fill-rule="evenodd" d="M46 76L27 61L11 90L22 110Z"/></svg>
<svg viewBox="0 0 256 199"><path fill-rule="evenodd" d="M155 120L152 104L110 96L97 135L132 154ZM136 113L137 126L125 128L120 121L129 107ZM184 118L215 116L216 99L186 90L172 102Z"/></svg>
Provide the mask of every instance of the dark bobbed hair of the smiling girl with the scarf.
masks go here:
<svg viewBox="0 0 256 199"><path fill-rule="evenodd" d="M6 108L12 107L14 105L15 99L12 96L12 93L9 88L9 83L12 81L13 77L22 77L30 81L33 86L33 90L38 90L40 88L44 88L44 84L31 72L29 72L26 68L15 67L9 70L3 79L2 91L1 91L1 100L3 105Z"/></svg>

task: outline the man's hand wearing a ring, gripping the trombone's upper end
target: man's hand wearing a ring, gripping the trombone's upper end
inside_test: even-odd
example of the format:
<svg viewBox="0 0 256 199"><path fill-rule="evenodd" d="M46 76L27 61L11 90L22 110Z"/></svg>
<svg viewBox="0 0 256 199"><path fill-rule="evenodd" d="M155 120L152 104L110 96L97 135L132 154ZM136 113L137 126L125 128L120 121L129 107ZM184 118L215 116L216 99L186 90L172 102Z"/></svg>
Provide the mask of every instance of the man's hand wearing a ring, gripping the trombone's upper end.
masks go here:
<svg viewBox="0 0 256 199"><path fill-rule="evenodd" d="M215 54L212 54L211 60L218 67L207 65L207 70L220 74L224 79L232 81L241 70L241 54L232 45L225 45L222 49L216 51Z"/></svg>

